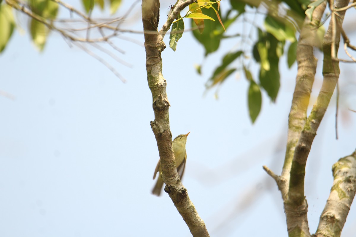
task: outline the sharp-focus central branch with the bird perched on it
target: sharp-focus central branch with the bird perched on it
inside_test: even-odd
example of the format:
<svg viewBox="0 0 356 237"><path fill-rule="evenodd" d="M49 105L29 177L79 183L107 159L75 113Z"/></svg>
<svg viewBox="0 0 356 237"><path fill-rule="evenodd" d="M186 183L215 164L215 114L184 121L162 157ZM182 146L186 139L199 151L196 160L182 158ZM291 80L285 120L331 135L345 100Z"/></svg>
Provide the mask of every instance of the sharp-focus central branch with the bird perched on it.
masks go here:
<svg viewBox="0 0 356 237"><path fill-rule="evenodd" d="M184 4L182 5L181 2L184 1L179 0L176 6L183 6ZM175 166L174 153L172 151L172 134L169 128L168 109L170 104L166 93L167 82L162 75L161 53L166 46L163 42L163 34L157 31L158 21L159 0L142 0L143 31L150 32L145 33L144 36L147 81L152 93L153 111L155 113L155 120L151 122L151 127L157 140L163 180L166 183L164 190L171 197L192 235L206 237L209 236L209 233L206 230L205 223L199 217L192 201L190 201L187 189L180 182ZM153 31L157 33L152 34ZM174 228L176 228L176 225L173 223L172 229L174 230Z"/></svg>

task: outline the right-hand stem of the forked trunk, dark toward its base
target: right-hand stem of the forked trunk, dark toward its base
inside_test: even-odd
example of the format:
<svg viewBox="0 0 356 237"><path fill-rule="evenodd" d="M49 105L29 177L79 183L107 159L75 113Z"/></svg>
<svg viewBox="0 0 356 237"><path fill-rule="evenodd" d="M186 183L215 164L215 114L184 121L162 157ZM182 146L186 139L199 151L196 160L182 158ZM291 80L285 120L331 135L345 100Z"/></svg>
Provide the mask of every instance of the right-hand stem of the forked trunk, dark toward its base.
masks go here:
<svg viewBox="0 0 356 237"><path fill-rule="evenodd" d="M341 8L347 6L348 0L335 1L335 7ZM342 25L344 20L345 11L339 12L335 20L338 21L338 25ZM328 31L325 34L323 41L323 84L319 91L318 98L313 106L312 112L310 113L300 138L298 144L295 147L295 152L293 156L292 168L290 171L290 184L289 184L289 199L293 200L295 203L302 203L304 200L304 174L305 165L307 163L307 158L309 155L310 147L312 146L314 137L316 135L316 130L318 130L321 120L324 117L326 108L329 105L331 96L336 87L337 80L339 79L340 69L339 61L333 60L331 57L332 45L335 45L335 49L339 48L340 42L340 29L336 27L334 29L334 24L330 21ZM333 31L336 30L336 35L333 35ZM335 39L335 41L333 40Z"/></svg>

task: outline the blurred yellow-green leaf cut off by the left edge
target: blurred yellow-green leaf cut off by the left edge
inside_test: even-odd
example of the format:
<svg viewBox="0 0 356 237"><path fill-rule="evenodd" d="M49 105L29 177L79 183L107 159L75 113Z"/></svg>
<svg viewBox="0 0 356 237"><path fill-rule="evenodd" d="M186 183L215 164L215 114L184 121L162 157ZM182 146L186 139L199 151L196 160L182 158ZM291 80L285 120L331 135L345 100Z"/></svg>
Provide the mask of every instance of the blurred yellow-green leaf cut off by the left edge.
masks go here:
<svg viewBox="0 0 356 237"><path fill-rule="evenodd" d="M0 53L14 32L15 20L9 5L0 5Z"/></svg>

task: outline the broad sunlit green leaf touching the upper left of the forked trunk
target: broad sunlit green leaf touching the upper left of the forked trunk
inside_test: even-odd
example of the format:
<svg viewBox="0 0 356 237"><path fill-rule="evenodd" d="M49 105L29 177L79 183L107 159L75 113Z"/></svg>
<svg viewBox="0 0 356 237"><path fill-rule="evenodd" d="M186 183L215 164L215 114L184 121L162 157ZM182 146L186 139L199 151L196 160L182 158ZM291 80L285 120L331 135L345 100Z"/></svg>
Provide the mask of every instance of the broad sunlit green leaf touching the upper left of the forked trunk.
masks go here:
<svg viewBox="0 0 356 237"><path fill-rule="evenodd" d="M272 16L267 16L265 19L266 31L273 34L279 41L295 41L296 29L292 23L284 18L274 18Z"/></svg>

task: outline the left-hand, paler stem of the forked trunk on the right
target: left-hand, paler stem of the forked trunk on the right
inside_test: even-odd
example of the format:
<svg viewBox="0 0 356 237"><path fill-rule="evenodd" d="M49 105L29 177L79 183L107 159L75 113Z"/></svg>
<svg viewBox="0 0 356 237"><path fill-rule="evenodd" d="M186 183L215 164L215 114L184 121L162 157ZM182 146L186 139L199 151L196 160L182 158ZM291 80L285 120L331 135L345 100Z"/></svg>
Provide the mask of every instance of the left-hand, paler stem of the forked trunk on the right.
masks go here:
<svg viewBox="0 0 356 237"><path fill-rule="evenodd" d="M307 108L310 93L314 83L317 59L314 56L314 47L320 46L316 31L320 25L321 17L325 11L326 2L323 2L313 12L312 21L305 18L303 28L297 46L298 73L293 93L292 106L288 118L288 139L287 150L284 159L281 179L284 180L282 187L283 200L286 198L289 188L289 173L292 166L295 146L297 145L300 133L307 120Z"/></svg>

